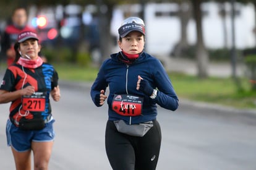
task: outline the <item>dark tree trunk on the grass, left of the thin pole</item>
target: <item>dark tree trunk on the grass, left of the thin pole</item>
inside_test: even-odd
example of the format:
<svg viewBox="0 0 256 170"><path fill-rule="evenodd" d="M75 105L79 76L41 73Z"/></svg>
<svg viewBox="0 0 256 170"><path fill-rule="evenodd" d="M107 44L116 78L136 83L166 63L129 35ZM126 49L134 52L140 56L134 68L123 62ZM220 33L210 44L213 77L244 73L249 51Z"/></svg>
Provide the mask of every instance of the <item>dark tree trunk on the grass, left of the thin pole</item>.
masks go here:
<svg viewBox="0 0 256 170"><path fill-rule="evenodd" d="M203 32L202 32L202 11L200 9L202 0L192 0L194 7L194 18L197 27L197 68L198 77L208 77L208 53L203 43Z"/></svg>

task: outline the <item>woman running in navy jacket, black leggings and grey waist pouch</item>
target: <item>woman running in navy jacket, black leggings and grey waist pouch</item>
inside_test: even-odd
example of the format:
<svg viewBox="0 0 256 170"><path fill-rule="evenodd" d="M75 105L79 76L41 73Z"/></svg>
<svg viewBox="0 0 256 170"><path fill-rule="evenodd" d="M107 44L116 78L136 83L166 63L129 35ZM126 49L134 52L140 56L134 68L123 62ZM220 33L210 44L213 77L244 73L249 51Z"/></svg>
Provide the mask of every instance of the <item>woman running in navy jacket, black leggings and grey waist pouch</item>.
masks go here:
<svg viewBox="0 0 256 170"><path fill-rule="evenodd" d="M96 106L108 98L106 153L114 170L156 169L161 146L156 104L174 111L179 100L161 62L143 52L143 20L129 17L118 32L121 51L103 62L91 88Z"/></svg>

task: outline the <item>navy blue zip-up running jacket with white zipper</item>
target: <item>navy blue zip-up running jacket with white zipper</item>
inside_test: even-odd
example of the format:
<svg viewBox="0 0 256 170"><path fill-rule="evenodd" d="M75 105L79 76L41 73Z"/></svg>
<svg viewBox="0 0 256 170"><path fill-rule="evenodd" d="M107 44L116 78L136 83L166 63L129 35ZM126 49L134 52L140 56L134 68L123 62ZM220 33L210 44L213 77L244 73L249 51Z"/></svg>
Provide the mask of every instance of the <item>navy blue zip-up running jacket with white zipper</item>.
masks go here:
<svg viewBox="0 0 256 170"><path fill-rule="evenodd" d="M99 100L95 100L101 90L109 87L108 116L110 121L124 120L127 124L139 124L141 122L156 119L156 104L162 108L174 111L179 106L177 95L169 80L161 62L150 54L142 53L133 64L125 64L119 60L119 53L111 54L100 67L95 82L91 88L91 97L96 106L100 106ZM136 90L138 75L147 80L151 87L158 90L155 99ZM112 109L114 94L127 94L142 96L143 108L140 116L122 116Z"/></svg>

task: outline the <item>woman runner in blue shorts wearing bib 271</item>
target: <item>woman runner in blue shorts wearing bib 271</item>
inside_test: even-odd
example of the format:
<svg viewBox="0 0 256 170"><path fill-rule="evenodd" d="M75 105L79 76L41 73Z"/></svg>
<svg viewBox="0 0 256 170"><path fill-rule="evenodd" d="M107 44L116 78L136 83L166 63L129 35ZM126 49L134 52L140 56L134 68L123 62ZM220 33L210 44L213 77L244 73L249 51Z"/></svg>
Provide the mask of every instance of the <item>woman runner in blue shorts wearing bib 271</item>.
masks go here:
<svg viewBox="0 0 256 170"><path fill-rule="evenodd" d="M53 116L49 96L59 101L58 74L38 57L41 46L33 32L22 32L15 43L15 63L9 66L0 87L0 103L11 102L6 126L16 169L48 169L53 147Z"/></svg>

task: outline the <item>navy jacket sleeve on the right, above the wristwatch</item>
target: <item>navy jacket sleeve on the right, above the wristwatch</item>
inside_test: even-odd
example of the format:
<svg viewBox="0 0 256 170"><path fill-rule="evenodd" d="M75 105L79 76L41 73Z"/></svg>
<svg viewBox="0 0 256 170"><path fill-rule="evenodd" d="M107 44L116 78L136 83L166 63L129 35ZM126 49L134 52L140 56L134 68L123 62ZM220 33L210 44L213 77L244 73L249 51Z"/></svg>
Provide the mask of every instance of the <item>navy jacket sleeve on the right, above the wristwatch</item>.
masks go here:
<svg viewBox="0 0 256 170"><path fill-rule="evenodd" d="M153 70L153 76L156 83L158 93L154 101L159 104L162 108L175 111L179 106L179 99L177 98L176 92L174 91L171 80L168 74L164 70L163 65L159 60L155 62L156 66Z"/></svg>

